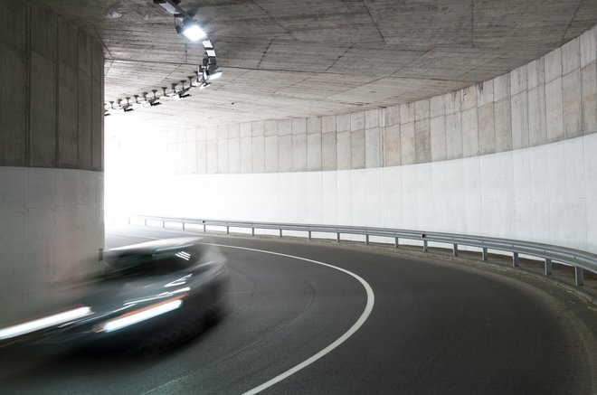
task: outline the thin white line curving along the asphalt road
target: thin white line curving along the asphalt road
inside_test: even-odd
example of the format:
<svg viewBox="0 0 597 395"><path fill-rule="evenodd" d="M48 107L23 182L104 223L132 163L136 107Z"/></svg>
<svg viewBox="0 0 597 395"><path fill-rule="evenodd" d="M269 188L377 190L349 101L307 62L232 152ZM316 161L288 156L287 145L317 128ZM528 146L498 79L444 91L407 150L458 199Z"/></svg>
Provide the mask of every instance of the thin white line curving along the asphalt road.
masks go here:
<svg viewBox="0 0 597 395"><path fill-rule="evenodd" d="M143 237L143 236L141 236L141 237ZM154 239L154 238L148 238L147 236L145 238L146 239ZM266 389L270 388L272 385L277 384L284 379L287 379L289 376L293 375L297 371L300 371L300 370L306 368L311 363L316 362L318 359L322 358L327 353L331 353L332 351L334 351L334 349L336 349L337 346L346 342L346 340L348 340L348 338L350 338L350 336L355 334L355 332L358 331L358 329L361 326L363 326L363 324L365 324L365 321L367 320L367 318L371 314L371 311L373 310L373 306L375 303L375 296L374 296L373 289L371 288L369 283L367 283L365 281L365 279L363 277L360 277L360 276L356 275L355 273L353 273L352 271L346 270L345 268L338 268L337 266L330 265L325 262L320 262L320 261L314 260L314 259L301 258L301 257L297 257L294 255L282 254L280 252L266 251L264 249L250 249L247 247L229 246L226 244L215 244L215 243L201 243L201 244L209 244L209 245L213 245L213 246L217 246L217 247L225 247L228 249L246 249L248 251L262 252L264 254L278 255L280 257L300 259L300 260L304 260L306 262L316 263L317 265L326 266L327 268L335 268L336 270L346 273L350 277L354 277L365 288L365 292L367 294L367 303L365 304L365 310L363 310L363 313L361 313L361 315L358 317L355 324L353 324L344 334L342 334L340 337L338 337L336 339L336 341L334 341L334 343L329 344L326 348L324 348L320 352L309 357L305 361L300 362L298 365L294 366L293 368L290 368L288 371L284 371L284 372L280 373L278 376L274 377L273 379L270 379L269 381L265 381L263 384L253 388L252 390L243 392L242 395L254 395L256 393L261 392L262 390L266 390Z"/></svg>

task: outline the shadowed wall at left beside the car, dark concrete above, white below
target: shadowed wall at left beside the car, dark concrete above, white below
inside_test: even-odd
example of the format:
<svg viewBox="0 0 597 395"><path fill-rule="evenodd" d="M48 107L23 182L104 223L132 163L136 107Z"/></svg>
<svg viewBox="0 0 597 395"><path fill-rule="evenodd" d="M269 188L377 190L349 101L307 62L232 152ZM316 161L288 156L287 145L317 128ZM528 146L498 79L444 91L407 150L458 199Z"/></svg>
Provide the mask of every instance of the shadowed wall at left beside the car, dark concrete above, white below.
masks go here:
<svg viewBox="0 0 597 395"><path fill-rule="evenodd" d="M0 324L97 267L103 50L61 16L0 3Z"/></svg>

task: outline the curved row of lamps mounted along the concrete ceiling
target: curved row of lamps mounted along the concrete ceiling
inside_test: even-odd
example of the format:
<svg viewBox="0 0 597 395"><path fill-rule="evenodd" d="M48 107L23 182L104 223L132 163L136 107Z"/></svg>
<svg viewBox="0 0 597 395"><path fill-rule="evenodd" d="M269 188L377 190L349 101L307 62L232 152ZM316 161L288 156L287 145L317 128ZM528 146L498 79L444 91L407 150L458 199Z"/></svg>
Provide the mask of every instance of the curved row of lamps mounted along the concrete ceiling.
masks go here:
<svg viewBox="0 0 597 395"><path fill-rule="evenodd" d="M154 107L162 104L161 100L180 100L191 96L189 90L194 87L205 89L212 84L212 80L222 77L222 70L217 66L213 44L207 38L204 30L194 21L194 15L187 13L180 8L180 0L154 0L154 4L161 5L169 14L174 15L175 31L184 35L189 41L202 41L205 50L203 64L194 72L194 76L187 77L187 80L173 82L171 89L161 87L161 94L157 96L159 89L151 89L153 95L143 92L143 95L133 95L132 98L117 99L105 104L104 116L114 113L133 111L135 108ZM186 85L187 84L187 85ZM180 85L180 87L178 87Z"/></svg>

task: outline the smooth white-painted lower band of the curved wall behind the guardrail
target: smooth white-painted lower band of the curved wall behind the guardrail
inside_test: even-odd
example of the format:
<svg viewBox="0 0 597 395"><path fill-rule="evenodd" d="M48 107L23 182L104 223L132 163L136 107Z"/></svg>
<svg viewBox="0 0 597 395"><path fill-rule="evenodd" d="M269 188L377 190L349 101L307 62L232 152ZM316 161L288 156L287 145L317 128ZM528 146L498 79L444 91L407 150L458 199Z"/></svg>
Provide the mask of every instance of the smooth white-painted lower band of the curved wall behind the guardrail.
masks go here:
<svg viewBox="0 0 597 395"><path fill-rule="evenodd" d="M597 134L371 169L109 172L106 210L110 217L138 213L437 230L597 252Z"/></svg>

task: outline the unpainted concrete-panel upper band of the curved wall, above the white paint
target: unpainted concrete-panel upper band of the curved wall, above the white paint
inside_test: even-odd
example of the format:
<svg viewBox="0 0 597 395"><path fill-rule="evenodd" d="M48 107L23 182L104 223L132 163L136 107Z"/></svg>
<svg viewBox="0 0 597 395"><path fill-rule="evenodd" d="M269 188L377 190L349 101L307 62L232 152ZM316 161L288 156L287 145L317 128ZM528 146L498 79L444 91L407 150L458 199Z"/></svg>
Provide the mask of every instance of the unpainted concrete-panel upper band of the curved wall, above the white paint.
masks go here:
<svg viewBox="0 0 597 395"><path fill-rule="evenodd" d="M160 171L244 174L413 165L589 135L597 132L596 35L597 26L498 78L401 106L156 132L153 138L163 149Z"/></svg>

